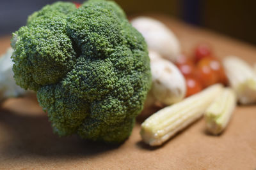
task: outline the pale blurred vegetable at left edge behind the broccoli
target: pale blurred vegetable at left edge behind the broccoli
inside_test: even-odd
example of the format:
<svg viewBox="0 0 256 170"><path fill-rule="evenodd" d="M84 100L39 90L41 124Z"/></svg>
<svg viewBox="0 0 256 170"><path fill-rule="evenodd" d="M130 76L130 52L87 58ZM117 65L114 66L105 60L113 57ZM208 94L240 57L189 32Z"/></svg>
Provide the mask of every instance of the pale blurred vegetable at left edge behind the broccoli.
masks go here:
<svg viewBox="0 0 256 170"><path fill-rule="evenodd" d="M16 85L13 78L12 52L13 49L8 48L6 53L0 56L0 101L8 97L18 97L25 93L25 90Z"/></svg>

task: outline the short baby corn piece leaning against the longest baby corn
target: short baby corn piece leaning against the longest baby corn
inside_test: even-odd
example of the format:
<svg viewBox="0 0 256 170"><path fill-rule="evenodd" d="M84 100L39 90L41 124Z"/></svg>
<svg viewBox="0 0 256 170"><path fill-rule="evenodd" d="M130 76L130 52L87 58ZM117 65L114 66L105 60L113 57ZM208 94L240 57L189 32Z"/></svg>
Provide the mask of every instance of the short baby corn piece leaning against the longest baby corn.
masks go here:
<svg viewBox="0 0 256 170"><path fill-rule="evenodd" d="M207 131L220 134L231 118L236 108L236 94L233 89L225 88L205 111Z"/></svg>

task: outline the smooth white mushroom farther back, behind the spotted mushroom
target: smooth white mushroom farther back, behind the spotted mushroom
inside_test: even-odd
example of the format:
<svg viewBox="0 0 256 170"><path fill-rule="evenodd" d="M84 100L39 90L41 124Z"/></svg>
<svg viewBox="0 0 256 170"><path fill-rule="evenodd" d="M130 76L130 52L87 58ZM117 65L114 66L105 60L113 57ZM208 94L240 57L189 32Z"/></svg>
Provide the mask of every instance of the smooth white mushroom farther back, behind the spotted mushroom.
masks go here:
<svg viewBox="0 0 256 170"><path fill-rule="evenodd" d="M166 25L150 17L134 18L131 20L131 24L141 32L149 49L173 62L177 60L180 53L180 43Z"/></svg>

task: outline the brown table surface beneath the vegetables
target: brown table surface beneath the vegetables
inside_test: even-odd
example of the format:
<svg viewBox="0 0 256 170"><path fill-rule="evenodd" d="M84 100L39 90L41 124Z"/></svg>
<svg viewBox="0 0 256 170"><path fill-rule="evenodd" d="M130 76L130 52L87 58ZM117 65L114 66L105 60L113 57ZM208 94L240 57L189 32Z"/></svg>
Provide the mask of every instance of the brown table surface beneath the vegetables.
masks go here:
<svg viewBox="0 0 256 170"><path fill-rule="evenodd" d="M184 52L199 42L209 42L218 57L238 55L256 62L255 46L154 15L170 27ZM10 46L10 36L0 39L0 53ZM239 106L221 136L205 133L199 120L159 148L140 138L140 124L123 145L83 141L77 136L58 138L31 95L8 99L0 107L0 169L256 169L256 106Z"/></svg>

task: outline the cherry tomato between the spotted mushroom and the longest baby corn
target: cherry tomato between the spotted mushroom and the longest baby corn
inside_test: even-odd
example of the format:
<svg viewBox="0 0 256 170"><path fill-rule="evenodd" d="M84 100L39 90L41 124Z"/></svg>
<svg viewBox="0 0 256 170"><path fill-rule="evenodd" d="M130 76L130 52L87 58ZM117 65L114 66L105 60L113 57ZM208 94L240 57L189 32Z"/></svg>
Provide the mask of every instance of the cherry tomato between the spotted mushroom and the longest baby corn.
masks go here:
<svg viewBox="0 0 256 170"><path fill-rule="evenodd" d="M186 97L196 94L203 89L200 81L191 77L186 78L186 87L187 87Z"/></svg>

